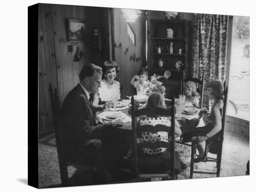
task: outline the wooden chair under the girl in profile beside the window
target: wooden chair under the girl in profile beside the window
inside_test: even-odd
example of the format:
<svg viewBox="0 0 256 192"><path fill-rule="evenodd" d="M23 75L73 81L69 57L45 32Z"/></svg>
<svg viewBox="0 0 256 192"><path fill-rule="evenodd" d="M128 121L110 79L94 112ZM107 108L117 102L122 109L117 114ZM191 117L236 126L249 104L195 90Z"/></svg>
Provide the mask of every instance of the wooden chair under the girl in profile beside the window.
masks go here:
<svg viewBox="0 0 256 192"><path fill-rule="evenodd" d="M216 158L207 157L207 161L216 162L217 171L216 172L204 172L204 171L194 171L194 160L196 155L196 143L192 142L192 150L191 150L191 161L190 161L190 179L193 178L194 173L201 173L201 174L216 174L217 177L220 176L221 171L221 160L222 160L222 145L223 145L223 134L225 128L225 116L226 116L226 107L227 107L227 97L228 97L228 87L226 87L226 82L224 83L224 99L223 99L223 110L222 110L222 129L216 135L210 137L207 140L206 149L209 147L209 153L216 154ZM214 144L215 149L214 151L210 151L210 145Z"/></svg>

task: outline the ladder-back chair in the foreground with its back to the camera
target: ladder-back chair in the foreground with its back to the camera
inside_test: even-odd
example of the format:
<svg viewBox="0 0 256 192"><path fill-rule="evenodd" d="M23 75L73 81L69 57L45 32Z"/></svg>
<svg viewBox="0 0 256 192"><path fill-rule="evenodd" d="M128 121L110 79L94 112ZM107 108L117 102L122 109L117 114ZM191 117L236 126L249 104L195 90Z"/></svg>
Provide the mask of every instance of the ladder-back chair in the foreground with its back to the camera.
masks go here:
<svg viewBox="0 0 256 192"><path fill-rule="evenodd" d="M176 179L175 175L175 97L173 96L172 99L172 106L171 110L163 109L163 108L143 108L138 109L138 102L134 100L134 97L132 96L131 102L132 102L132 131L133 131L133 137L134 137L134 144L133 144L133 161L134 161L134 174L135 178L140 178L141 181L150 181L150 180L165 180L165 179ZM155 125L154 127L152 125L143 125L140 126L137 123L138 117L141 115L147 115L147 117L156 117L158 115L164 115L164 116L171 116L171 127L165 126L165 125ZM137 143L137 137L141 138L142 132L150 132L150 133L156 133L159 131L165 131L168 132L171 136L171 141L164 142L164 141L143 141L140 143ZM143 148L168 148L170 149L170 158L160 157L157 156L155 158L153 157L143 157L138 158L138 152L142 152ZM167 149L167 150L168 150ZM165 164L166 162L170 163L171 168L170 171L164 172L164 173L139 173L140 167L139 162L143 163L155 163L154 165L159 164ZM159 163L159 164L158 164ZM151 164L152 165L152 164Z"/></svg>

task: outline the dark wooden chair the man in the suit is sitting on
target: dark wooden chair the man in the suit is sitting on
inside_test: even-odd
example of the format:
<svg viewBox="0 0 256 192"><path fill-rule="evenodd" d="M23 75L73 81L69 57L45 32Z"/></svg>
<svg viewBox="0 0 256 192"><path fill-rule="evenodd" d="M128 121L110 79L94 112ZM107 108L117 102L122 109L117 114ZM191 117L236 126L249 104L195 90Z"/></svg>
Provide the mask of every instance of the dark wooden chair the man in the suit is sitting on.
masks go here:
<svg viewBox="0 0 256 192"><path fill-rule="evenodd" d="M77 186L83 185L83 183L86 183L88 185L88 179L84 177L84 173L76 174L68 178L67 166L75 164L72 162L68 162L67 156L65 155L65 142L63 138L63 129L61 122L61 102L59 100L57 89L54 88L53 92L51 83L49 83L49 94L54 118L54 132L60 167L61 186Z"/></svg>

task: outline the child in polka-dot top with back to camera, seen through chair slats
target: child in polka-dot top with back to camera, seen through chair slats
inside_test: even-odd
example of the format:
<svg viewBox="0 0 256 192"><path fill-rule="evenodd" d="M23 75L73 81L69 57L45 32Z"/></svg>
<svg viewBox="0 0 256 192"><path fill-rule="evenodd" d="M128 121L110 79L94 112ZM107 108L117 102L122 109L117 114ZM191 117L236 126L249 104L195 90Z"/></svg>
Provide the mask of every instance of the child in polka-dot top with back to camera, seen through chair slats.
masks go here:
<svg viewBox="0 0 256 192"><path fill-rule="evenodd" d="M153 93L152 95L150 95L148 97L148 102L147 102L147 106L149 108L164 108L166 109L166 104L164 101L164 97L160 94L160 93ZM166 126L171 126L171 119L168 116L158 116L153 118L148 118L148 117L143 117L138 121L138 124L140 126L142 125L157 125L157 124L162 124L162 125L166 125ZM175 120L175 134L180 136L182 134L182 130L180 129L180 125L177 122L177 120ZM168 142L169 141L169 135L168 132L157 132L155 134L149 133L149 132L142 132L142 139L138 138L138 140L142 140L142 141L165 141ZM154 150L148 149L148 148L143 148L142 149L142 154L138 154L141 157L148 157L148 156L163 156L163 157L170 157L170 152L167 148L156 148ZM140 164L139 164L140 165ZM187 166L181 162L180 157L178 152L175 151L175 171L176 173L180 173L183 169L185 169ZM154 167L148 167L148 165L143 165L143 163L140 165L140 168L143 172L143 170L148 171L149 169L153 169ZM165 166L166 170L163 171L168 171L170 169L170 165L166 165Z"/></svg>

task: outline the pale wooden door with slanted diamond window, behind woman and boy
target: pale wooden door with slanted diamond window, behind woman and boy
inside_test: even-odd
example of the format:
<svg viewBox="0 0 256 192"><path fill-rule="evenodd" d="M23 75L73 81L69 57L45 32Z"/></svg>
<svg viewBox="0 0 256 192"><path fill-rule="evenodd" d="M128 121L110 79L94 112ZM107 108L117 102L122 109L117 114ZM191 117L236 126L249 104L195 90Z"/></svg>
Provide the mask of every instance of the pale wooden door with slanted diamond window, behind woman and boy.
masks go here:
<svg viewBox="0 0 256 192"><path fill-rule="evenodd" d="M146 65L145 11L135 22L126 22L120 8L113 8L111 18L113 60L120 66L121 98L134 94L131 78ZM135 35L135 44L128 35L128 25Z"/></svg>

